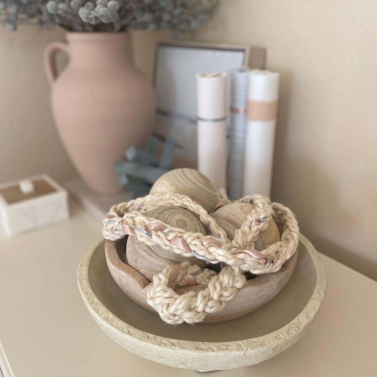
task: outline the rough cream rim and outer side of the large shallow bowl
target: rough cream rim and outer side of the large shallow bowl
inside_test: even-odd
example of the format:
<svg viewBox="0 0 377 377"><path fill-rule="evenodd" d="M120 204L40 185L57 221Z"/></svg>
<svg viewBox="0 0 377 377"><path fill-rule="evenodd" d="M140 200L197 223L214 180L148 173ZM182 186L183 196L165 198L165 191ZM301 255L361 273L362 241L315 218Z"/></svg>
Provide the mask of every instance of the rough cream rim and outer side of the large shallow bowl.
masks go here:
<svg viewBox="0 0 377 377"><path fill-rule="evenodd" d="M164 352L164 354L167 352L167 354L174 354L175 356L180 354L177 352L190 352L196 355L198 355L198 352L207 352L208 366L199 370L210 371L216 369L216 367L210 363L212 356L216 357L216 360L221 360L221 357L225 357L228 352L233 352L232 355L234 355L234 357L238 358L238 356L240 356L244 359L243 365L252 365L275 356L299 340L310 323L313 322L322 305L326 291L325 268L320 260L319 253L314 249L310 241L302 235L300 235L299 241L303 244L310 256L316 272L316 282L312 294L303 310L285 326L263 336L250 339L234 340L230 342L198 342L193 340L172 339L139 330L116 317L98 299L89 282L90 259L95 249L103 242L103 239L92 245L81 259L78 265L78 287L88 311L97 324L107 335L118 343L123 343L121 345L123 345L124 348L129 349L139 356L166 365L197 369L195 361L189 365L181 365L178 362L179 360L176 360L174 363L167 359L162 360L161 353L159 352ZM120 342L119 339L123 339L123 341ZM156 352L156 355L159 353L158 357L154 357L153 354L149 353L152 349ZM159 350L159 352L156 350ZM230 364L224 366L224 368L221 368L219 364L217 365L219 366L217 369L236 368L236 366ZM199 366L199 368L201 368L201 366Z"/></svg>

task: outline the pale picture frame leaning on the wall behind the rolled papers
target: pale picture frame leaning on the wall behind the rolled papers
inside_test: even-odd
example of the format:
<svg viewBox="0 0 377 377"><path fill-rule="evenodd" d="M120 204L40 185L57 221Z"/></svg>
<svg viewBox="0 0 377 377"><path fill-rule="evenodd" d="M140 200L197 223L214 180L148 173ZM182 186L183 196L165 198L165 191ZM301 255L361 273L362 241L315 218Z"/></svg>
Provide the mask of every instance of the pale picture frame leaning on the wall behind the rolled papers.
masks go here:
<svg viewBox="0 0 377 377"><path fill-rule="evenodd" d="M176 155L182 161L196 162L197 158L196 75L229 73L243 66L264 68L265 49L219 43L157 44L153 77L157 101L154 132L176 141Z"/></svg>

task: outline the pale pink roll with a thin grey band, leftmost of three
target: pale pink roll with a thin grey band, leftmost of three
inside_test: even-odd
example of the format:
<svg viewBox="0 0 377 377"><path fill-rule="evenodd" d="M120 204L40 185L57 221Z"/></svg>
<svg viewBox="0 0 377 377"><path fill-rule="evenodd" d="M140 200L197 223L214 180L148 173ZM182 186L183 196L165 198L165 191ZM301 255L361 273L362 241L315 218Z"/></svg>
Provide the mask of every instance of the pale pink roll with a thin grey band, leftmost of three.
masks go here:
<svg viewBox="0 0 377 377"><path fill-rule="evenodd" d="M198 170L216 189L226 188L227 75L197 76L198 89Z"/></svg>

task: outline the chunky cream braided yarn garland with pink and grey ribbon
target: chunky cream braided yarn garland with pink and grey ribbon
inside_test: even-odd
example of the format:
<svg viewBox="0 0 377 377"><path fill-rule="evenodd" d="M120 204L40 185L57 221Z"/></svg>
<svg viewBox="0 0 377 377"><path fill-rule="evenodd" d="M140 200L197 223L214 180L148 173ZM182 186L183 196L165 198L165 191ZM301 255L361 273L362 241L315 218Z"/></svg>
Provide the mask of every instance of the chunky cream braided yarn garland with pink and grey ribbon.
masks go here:
<svg viewBox="0 0 377 377"><path fill-rule="evenodd" d="M222 201L229 202L224 195ZM147 302L165 322L201 322L206 313L221 310L225 302L242 288L245 284L244 271L253 274L276 272L295 253L299 228L289 208L279 203L271 204L270 199L261 195L245 196L236 202L253 204L253 209L231 241L204 208L188 196L175 193L147 195L115 205L104 219L103 235L106 239L115 241L126 234L134 235L149 246L159 245L182 256L195 255L210 263L221 263L219 274L208 269L202 271L198 266L190 265L190 262L183 262L181 265L167 266L153 276ZM189 210L211 235L186 233L146 216L147 211L162 206ZM259 232L266 230L272 219L282 225L281 241L263 251L255 250L254 242ZM182 295L174 291L177 286L189 284L202 285L202 289Z"/></svg>

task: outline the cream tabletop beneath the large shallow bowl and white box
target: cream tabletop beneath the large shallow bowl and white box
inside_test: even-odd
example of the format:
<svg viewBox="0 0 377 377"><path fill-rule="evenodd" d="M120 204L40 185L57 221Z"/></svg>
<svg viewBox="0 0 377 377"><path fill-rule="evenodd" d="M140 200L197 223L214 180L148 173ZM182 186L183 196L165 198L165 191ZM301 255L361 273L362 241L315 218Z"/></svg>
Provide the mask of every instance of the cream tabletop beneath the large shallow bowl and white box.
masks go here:
<svg viewBox="0 0 377 377"><path fill-rule="evenodd" d="M0 229L0 366L4 377L198 376L126 351L95 324L76 283L101 224L71 203L70 220L14 238ZM263 363L224 376L377 376L377 282L322 256L328 289L308 332ZM3 352L2 352L3 351ZM1 375L1 372L0 372Z"/></svg>

